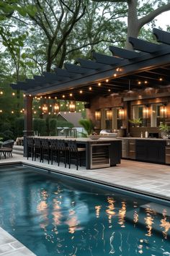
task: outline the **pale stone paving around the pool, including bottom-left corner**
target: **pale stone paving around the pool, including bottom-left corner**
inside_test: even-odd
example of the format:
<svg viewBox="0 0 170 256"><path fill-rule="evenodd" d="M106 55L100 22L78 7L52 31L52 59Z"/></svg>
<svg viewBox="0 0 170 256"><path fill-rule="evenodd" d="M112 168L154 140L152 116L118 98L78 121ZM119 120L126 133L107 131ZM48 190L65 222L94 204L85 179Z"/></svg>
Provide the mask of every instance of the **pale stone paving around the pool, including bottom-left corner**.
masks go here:
<svg viewBox="0 0 170 256"><path fill-rule="evenodd" d="M13 158L1 158L0 169L1 165L6 163L26 163L57 171L62 174L78 176L83 179L102 182L103 184L109 184L135 192L155 195L156 197L165 198L166 200L170 199L170 166L166 165L122 160L121 164L110 168L86 170L84 167L80 167L79 170L76 171L76 166L74 165L72 165L70 169L64 168L62 164L58 167L54 163L52 166L48 163L27 160L27 158L23 158L21 155L14 154ZM1 237L6 237L4 232L6 233L6 231L0 228L0 255L34 255L14 238L14 241L1 239ZM8 235L8 233L6 234ZM16 244L19 245L18 248Z"/></svg>

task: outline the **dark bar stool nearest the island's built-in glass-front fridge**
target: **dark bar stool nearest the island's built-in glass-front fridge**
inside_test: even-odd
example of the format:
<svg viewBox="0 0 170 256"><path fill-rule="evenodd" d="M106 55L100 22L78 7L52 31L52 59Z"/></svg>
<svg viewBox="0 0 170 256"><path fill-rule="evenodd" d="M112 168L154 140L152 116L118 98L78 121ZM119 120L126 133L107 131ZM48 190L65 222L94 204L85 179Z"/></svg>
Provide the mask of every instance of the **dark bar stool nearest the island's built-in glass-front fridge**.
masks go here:
<svg viewBox="0 0 170 256"><path fill-rule="evenodd" d="M68 166L71 168L71 160L74 160L76 161L76 169L78 170L78 166L81 166L82 152L84 152L86 149L78 148L76 140L68 140L67 145Z"/></svg>

